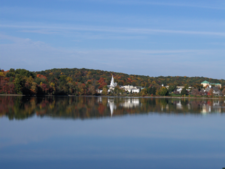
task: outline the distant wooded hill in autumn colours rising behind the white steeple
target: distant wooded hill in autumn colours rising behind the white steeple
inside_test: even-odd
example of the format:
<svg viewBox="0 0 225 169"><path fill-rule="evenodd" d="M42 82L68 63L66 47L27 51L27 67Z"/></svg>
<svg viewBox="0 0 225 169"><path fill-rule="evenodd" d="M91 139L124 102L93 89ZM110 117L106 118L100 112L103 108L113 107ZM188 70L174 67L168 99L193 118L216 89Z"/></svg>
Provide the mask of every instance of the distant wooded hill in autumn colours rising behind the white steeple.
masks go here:
<svg viewBox="0 0 225 169"><path fill-rule="evenodd" d="M46 76L48 79L52 76L59 78L60 75L66 75L73 79L73 81L86 83L88 80L98 81L100 78L104 78L107 84L110 83L111 75L114 76L115 81L119 85L135 85L149 87L151 85L190 85L200 84L207 80L212 83L221 83L225 85L224 79L212 79L207 77L186 77L186 76L159 76L150 77L143 75L132 75L112 71L94 70L94 69L49 69L45 71L36 72Z"/></svg>

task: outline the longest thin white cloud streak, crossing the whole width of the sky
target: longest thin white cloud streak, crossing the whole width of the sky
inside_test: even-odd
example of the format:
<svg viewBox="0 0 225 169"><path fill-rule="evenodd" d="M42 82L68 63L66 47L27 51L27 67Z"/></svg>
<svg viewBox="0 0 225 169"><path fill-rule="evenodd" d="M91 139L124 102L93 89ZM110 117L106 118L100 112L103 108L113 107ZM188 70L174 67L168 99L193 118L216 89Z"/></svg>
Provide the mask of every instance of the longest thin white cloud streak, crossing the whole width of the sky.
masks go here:
<svg viewBox="0 0 225 169"><path fill-rule="evenodd" d="M225 36L225 32L211 31L189 31L189 30L169 30L169 29L148 29L148 28L132 28L132 27L99 27L84 25L40 25L40 24L0 24L1 28L16 29L35 29L33 33L41 33L44 29L49 32L57 32L62 30L82 31L82 32L110 32L110 33L126 33L126 34L183 34L183 35L205 35L205 36ZM24 31L24 30L22 30Z"/></svg>

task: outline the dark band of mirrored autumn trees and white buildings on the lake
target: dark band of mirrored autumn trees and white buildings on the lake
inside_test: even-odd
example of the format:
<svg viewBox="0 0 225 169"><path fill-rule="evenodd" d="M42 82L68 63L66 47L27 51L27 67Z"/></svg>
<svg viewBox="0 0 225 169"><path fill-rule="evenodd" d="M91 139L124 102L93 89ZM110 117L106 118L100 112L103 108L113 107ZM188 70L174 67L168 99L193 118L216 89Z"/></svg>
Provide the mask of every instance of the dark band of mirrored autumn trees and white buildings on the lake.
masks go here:
<svg viewBox="0 0 225 169"><path fill-rule="evenodd" d="M0 97L0 116L26 119L101 118L126 114L201 114L225 112L223 100L155 99L121 97Z"/></svg>

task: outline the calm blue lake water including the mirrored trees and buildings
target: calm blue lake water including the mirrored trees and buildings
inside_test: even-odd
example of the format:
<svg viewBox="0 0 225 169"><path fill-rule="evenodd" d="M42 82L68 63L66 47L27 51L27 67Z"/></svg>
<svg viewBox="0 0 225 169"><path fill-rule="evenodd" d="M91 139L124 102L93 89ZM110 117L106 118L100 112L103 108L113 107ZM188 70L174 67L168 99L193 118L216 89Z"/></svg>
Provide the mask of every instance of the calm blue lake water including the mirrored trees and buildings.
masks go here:
<svg viewBox="0 0 225 169"><path fill-rule="evenodd" d="M225 167L224 100L0 97L0 168Z"/></svg>

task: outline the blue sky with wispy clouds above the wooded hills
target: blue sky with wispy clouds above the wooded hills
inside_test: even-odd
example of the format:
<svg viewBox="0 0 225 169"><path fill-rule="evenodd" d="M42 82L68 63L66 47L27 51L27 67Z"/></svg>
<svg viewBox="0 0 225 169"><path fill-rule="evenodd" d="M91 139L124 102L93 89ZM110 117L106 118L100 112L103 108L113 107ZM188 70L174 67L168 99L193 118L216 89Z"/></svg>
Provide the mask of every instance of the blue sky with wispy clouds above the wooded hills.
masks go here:
<svg viewBox="0 0 225 169"><path fill-rule="evenodd" d="M225 79L224 0L1 0L0 68Z"/></svg>

